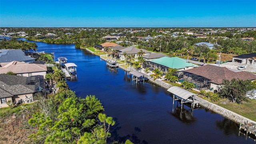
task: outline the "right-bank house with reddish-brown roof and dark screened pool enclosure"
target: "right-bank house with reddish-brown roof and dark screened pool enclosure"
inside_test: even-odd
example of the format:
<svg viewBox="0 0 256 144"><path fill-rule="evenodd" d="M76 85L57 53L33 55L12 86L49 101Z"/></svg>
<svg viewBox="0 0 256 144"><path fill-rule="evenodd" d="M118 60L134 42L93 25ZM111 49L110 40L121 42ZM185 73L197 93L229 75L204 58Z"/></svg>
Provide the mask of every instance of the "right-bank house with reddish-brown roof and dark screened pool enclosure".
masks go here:
<svg viewBox="0 0 256 144"><path fill-rule="evenodd" d="M177 72L179 82L188 81L198 90L218 90L224 79L255 80L256 75L245 71L232 71L226 67L204 65Z"/></svg>

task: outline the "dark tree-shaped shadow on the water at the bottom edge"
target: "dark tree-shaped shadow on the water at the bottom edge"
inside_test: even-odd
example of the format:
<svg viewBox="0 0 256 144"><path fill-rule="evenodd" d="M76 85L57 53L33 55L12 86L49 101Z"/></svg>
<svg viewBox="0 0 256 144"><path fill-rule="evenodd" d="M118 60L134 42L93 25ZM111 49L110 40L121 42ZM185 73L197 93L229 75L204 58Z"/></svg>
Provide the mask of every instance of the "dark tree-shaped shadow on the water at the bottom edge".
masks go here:
<svg viewBox="0 0 256 144"><path fill-rule="evenodd" d="M132 135L127 134L126 136L119 136L118 130L120 130L122 127L120 126L117 118L113 118L113 120L116 123L110 130L111 137L108 138L108 143L112 143L114 140L118 140L118 142L125 142L126 140L130 140L134 144L148 144L146 140L140 140L138 138L138 133L141 132L140 128L138 127L134 127L134 132Z"/></svg>

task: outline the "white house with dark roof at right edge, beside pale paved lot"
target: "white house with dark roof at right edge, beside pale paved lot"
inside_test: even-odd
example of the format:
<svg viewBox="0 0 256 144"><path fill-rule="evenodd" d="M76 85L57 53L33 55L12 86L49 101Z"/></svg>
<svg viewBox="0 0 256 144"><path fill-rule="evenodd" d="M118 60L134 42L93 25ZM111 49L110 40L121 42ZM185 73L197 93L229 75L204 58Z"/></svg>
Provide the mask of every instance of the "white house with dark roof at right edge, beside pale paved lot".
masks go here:
<svg viewBox="0 0 256 144"><path fill-rule="evenodd" d="M238 62L241 64L256 65L256 53L242 54L239 56L233 56L232 62Z"/></svg>

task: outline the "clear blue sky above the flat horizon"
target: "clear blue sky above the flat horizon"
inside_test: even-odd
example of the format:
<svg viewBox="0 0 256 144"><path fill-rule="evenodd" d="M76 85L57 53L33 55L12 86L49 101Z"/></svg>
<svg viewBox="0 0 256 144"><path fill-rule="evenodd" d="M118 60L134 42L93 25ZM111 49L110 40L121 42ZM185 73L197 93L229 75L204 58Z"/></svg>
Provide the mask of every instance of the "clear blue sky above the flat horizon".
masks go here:
<svg viewBox="0 0 256 144"><path fill-rule="evenodd" d="M0 27L256 27L256 0L0 0Z"/></svg>

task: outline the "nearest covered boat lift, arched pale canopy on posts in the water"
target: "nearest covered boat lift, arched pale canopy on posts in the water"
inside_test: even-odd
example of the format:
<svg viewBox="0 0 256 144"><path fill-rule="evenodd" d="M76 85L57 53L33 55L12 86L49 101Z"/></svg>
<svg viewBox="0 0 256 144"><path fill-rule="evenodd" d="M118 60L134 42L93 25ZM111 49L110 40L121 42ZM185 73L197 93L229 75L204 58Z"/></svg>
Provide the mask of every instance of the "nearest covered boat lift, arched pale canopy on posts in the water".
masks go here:
<svg viewBox="0 0 256 144"><path fill-rule="evenodd" d="M195 104L198 105L198 101L194 100L194 96L196 94L184 90L178 86L172 86L167 90L168 92L173 94L172 104L174 104L174 100L181 100L181 108L183 103L191 103L191 107L194 108Z"/></svg>

